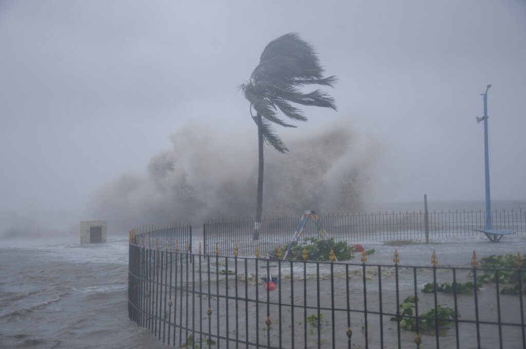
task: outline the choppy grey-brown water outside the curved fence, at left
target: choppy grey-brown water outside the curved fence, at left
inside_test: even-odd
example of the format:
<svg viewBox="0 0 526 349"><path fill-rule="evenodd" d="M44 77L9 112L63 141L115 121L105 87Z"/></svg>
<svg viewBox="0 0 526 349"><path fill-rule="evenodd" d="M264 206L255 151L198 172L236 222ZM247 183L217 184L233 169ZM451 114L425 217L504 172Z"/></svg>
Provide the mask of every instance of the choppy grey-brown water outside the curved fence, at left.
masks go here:
<svg viewBox="0 0 526 349"><path fill-rule="evenodd" d="M1 348L165 347L128 320L127 239L31 243L0 249Z"/></svg>

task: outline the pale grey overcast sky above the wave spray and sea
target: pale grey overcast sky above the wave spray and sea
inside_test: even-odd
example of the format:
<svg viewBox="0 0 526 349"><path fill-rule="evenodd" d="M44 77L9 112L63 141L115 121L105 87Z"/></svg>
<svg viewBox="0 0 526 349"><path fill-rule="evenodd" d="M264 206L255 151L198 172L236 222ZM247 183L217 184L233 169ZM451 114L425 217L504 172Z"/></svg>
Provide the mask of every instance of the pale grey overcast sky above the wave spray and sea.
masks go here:
<svg viewBox="0 0 526 349"><path fill-rule="evenodd" d="M0 0L0 210L80 210L187 125L255 147L238 85L289 32L339 83L286 143L343 122L378 152L367 200L483 200L492 84L492 199L526 199L522 0Z"/></svg>

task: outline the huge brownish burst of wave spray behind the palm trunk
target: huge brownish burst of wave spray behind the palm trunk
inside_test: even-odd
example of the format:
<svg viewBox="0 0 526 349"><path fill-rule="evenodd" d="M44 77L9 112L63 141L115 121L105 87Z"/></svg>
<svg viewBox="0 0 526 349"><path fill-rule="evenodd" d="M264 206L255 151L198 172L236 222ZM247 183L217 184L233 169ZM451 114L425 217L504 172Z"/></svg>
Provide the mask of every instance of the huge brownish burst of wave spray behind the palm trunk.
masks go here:
<svg viewBox="0 0 526 349"><path fill-rule="evenodd" d="M265 147L264 217L296 216L306 209L359 211L373 152L367 161L359 160L357 140L347 127L335 125L318 135L296 132L286 155ZM145 176L124 174L98 190L90 215L112 222L120 232L171 222L199 226L208 219L254 218L256 138L247 146L210 137L194 125L170 140L173 148L154 155Z"/></svg>

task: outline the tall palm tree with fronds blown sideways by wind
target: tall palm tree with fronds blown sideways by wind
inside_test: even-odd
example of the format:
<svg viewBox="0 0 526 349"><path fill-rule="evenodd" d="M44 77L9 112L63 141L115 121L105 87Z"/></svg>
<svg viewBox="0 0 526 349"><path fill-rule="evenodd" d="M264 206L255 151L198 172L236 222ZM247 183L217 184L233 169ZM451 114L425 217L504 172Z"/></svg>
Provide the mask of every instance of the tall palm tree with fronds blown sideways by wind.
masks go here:
<svg viewBox="0 0 526 349"><path fill-rule="evenodd" d="M315 49L302 40L298 34L289 33L272 40L261 53L259 64L252 71L250 80L241 84L240 89L250 102L250 115L258 127L258 188L256 220L252 239L259 239L263 203L263 147L265 143L280 153L288 151L285 143L271 126L274 122L284 127L287 124L278 117L278 110L296 121L307 121L303 112L292 103L304 106L325 107L336 110L335 101L327 93L314 90L304 93L306 85L325 85L333 87L336 76L323 77ZM256 115L252 114L255 110Z"/></svg>

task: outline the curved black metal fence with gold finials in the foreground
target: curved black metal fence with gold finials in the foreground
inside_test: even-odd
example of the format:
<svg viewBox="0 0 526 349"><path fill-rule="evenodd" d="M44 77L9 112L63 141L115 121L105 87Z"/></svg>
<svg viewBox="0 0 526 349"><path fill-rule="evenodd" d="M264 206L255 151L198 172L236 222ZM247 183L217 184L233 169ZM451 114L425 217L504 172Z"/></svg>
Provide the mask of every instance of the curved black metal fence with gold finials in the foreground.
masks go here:
<svg viewBox="0 0 526 349"><path fill-rule="evenodd" d="M230 256L191 253L191 228L180 229L175 239L130 233L129 318L166 344L526 348L525 256L508 269L481 268L474 253L471 268L439 266L434 254L432 266L399 265L397 253L391 265L365 253L356 263L281 262L236 246Z"/></svg>

